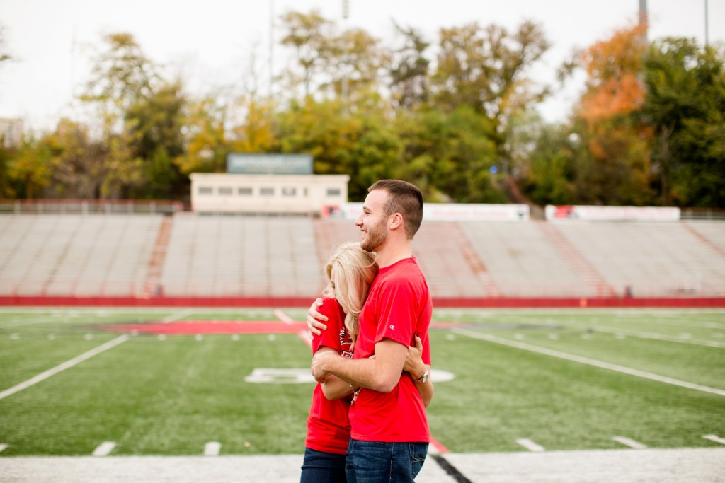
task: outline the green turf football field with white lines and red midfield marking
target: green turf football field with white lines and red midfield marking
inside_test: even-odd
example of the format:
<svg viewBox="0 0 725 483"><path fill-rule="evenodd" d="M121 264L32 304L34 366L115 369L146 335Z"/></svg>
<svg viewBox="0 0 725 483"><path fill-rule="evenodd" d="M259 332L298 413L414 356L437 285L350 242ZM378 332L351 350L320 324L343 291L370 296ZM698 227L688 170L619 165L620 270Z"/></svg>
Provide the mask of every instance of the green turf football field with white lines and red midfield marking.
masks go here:
<svg viewBox="0 0 725 483"><path fill-rule="evenodd" d="M2 308L0 459L301 462L306 311ZM431 351L442 458L725 448L723 310L436 309Z"/></svg>

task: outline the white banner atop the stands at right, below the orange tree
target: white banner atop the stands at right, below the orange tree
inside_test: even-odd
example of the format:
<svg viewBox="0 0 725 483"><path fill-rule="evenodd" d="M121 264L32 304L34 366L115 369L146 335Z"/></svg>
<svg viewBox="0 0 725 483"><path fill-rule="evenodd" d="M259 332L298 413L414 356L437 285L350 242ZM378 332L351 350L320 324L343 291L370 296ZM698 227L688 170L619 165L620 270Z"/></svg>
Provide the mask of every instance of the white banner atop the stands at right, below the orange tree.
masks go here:
<svg viewBox="0 0 725 483"><path fill-rule="evenodd" d="M547 205L544 212L550 221L676 222L680 219L680 209L667 206Z"/></svg>

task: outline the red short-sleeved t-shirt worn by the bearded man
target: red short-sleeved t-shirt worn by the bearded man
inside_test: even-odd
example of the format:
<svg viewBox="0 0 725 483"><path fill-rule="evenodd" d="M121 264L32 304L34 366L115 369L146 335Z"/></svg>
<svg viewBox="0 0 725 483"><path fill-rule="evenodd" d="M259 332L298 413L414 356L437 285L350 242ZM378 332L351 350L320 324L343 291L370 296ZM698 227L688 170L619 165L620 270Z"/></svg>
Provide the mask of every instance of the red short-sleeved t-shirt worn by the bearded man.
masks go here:
<svg viewBox="0 0 725 483"><path fill-rule="evenodd" d="M394 340L406 347L418 334L423 342L423 363L431 364L428 326L433 303L426 278L415 257L380 269L360 312L360 334L355 358L370 357L375 344ZM430 442L426 408L415 382L402 374L392 392L360 390L350 407L352 438L376 442Z"/></svg>

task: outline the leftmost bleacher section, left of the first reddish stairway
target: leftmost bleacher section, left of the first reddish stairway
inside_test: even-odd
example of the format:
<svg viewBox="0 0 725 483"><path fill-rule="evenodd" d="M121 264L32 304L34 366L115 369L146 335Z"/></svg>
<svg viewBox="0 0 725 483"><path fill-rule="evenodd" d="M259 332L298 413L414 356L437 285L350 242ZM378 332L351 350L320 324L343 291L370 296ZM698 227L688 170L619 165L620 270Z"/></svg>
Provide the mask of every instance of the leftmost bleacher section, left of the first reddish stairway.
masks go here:
<svg viewBox="0 0 725 483"><path fill-rule="evenodd" d="M0 216L0 290L141 295L160 216Z"/></svg>

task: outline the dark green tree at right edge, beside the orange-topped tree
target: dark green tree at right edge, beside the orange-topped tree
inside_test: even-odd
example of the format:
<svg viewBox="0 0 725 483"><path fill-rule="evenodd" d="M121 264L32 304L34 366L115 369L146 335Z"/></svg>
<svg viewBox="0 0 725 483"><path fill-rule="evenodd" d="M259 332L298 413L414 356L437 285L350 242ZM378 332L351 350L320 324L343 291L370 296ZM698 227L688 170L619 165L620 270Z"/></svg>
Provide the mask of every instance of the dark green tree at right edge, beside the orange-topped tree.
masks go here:
<svg viewBox="0 0 725 483"><path fill-rule="evenodd" d="M725 51L687 38L653 43L642 113L656 136L663 204L725 206Z"/></svg>

